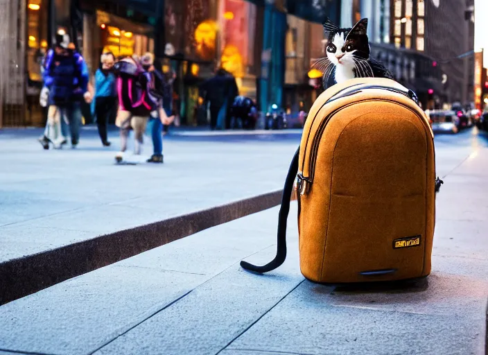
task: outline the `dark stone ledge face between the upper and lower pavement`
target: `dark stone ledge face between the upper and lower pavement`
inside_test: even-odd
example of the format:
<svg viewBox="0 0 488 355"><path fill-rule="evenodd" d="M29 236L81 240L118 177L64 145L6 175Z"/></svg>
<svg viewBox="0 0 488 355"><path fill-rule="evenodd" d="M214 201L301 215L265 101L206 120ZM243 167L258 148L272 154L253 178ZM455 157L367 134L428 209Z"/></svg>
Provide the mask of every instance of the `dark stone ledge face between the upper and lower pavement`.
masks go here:
<svg viewBox="0 0 488 355"><path fill-rule="evenodd" d="M0 263L0 305L281 202L281 190ZM294 191L295 192L295 191ZM292 200L296 199L293 193Z"/></svg>

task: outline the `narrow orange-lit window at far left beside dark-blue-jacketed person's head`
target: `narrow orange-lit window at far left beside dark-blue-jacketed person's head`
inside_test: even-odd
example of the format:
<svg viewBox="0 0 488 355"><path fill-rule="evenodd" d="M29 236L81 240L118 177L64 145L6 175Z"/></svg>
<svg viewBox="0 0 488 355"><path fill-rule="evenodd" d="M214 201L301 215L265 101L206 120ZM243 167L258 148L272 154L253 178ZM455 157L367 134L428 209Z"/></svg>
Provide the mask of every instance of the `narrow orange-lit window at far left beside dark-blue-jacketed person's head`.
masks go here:
<svg viewBox="0 0 488 355"><path fill-rule="evenodd" d="M29 0L27 6L27 71L30 80L41 81L42 58L48 46L47 23L48 2Z"/></svg>

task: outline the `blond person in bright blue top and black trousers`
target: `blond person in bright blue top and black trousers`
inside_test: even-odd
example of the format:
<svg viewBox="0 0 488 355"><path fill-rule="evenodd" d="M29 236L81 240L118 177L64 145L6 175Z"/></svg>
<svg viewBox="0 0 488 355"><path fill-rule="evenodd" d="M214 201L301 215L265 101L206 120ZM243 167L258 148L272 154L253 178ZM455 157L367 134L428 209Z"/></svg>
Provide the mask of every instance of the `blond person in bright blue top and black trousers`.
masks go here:
<svg viewBox="0 0 488 355"><path fill-rule="evenodd" d="M112 52L103 53L100 67L95 73L96 125L103 146L110 146L110 141L107 139L107 125L116 103L114 63L115 56Z"/></svg>

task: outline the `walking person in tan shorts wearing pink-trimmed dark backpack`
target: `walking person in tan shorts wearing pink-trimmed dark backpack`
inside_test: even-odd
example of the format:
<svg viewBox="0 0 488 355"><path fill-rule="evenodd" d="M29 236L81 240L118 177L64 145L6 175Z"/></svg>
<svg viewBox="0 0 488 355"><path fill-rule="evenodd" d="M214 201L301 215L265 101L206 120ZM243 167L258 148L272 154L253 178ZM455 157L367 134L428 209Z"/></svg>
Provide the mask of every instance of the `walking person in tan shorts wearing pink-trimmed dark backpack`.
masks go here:
<svg viewBox="0 0 488 355"><path fill-rule="evenodd" d="M123 58L115 65L119 110L116 126L120 128L121 150L116 154L118 163L123 161L127 150L129 130L134 130L134 154L141 154L143 135L150 112L157 109L157 98L153 92L153 77L132 57Z"/></svg>

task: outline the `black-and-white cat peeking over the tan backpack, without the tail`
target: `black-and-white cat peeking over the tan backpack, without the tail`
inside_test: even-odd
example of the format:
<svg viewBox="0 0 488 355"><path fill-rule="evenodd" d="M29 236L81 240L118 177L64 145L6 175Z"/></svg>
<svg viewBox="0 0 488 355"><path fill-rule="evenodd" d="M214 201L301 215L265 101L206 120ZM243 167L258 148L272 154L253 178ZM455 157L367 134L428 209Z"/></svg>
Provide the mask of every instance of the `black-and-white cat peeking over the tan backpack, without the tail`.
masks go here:
<svg viewBox="0 0 488 355"><path fill-rule="evenodd" d="M327 56L313 67L324 73L324 89L353 78L393 78L383 64L369 57L367 19L361 19L353 28L339 28L327 18L323 26L329 38Z"/></svg>

